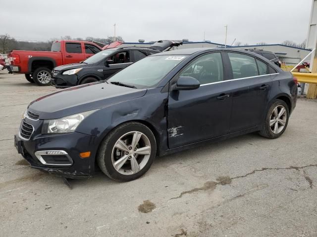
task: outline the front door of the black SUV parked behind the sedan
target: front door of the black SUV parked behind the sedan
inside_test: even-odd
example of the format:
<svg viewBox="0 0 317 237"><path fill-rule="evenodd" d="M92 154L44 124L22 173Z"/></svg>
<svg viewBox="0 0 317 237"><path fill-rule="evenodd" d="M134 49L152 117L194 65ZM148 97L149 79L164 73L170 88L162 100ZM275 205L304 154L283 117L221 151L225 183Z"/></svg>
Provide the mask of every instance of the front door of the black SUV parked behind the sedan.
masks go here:
<svg viewBox="0 0 317 237"><path fill-rule="evenodd" d="M129 66L132 63L130 60L130 55L130 50L121 50L108 57L106 60L112 60L113 64L106 65L105 61L106 66L104 67L104 78L107 79L121 69Z"/></svg>

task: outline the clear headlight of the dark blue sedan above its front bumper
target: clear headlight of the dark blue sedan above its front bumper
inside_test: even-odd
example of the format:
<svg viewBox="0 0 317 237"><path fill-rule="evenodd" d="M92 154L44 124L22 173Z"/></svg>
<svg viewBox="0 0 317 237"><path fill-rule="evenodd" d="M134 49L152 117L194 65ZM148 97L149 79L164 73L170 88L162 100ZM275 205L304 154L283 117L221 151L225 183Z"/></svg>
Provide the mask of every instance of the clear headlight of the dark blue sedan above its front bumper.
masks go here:
<svg viewBox="0 0 317 237"><path fill-rule="evenodd" d="M91 110L76 115L66 116L64 118L44 120L42 134L73 132L82 122L82 120L84 120L84 118L91 115L95 111L96 110Z"/></svg>

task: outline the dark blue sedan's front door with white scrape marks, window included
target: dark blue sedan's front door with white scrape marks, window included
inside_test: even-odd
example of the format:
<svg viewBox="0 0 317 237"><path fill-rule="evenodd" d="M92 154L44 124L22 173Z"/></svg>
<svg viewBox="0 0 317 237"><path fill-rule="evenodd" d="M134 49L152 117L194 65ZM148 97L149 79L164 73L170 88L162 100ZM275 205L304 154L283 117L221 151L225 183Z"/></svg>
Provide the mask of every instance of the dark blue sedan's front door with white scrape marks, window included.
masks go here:
<svg viewBox="0 0 317 237"><path fill-rule="evenodd" d="M175 148L229 133L230 81L223 70L220 52L208 53L190 62L178 75L200 81L195 90L169 91L167 134Z"/></svg>

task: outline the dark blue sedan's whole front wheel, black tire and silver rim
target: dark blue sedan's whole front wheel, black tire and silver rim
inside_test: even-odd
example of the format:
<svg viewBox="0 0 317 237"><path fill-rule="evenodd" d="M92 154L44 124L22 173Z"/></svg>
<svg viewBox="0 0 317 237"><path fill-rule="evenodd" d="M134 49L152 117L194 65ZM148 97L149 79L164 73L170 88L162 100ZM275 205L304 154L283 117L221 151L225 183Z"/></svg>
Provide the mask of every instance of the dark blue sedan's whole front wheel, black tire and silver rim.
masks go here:
<svg viewBox="0 0 317 237"><path fill-rule="evenodd" d="M139 136L136 146L132 144L135 134ZM119 140L124 143L123 146ZM115 148L115 145L120 145L123 149ZM137 154L142 149L147 155ZM117 126L106 136L98 150L97 162L109 178L127 182L145 174L151 167L156 153L157 143L153 132L142 123L127 122ZM115 168L115 162L120 159L122 162L118 162ZM138 165L133 165L135 161Z"/></svg>

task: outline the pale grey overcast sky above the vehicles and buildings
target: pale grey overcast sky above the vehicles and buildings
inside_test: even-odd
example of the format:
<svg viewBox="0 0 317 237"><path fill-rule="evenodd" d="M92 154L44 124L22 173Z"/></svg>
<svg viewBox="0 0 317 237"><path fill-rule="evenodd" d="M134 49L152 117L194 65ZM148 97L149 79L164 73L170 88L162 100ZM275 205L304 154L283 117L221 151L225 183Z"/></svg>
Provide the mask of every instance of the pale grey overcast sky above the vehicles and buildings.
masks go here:
<svg viewBox="0 0 317 237"><path fill-rule="evenodd" d="M107 2L107 3L106 3ZM69 35L126 42L206 40L302 42L307 37L312 0L1 0L0 35L49 40Z"/></svg>

